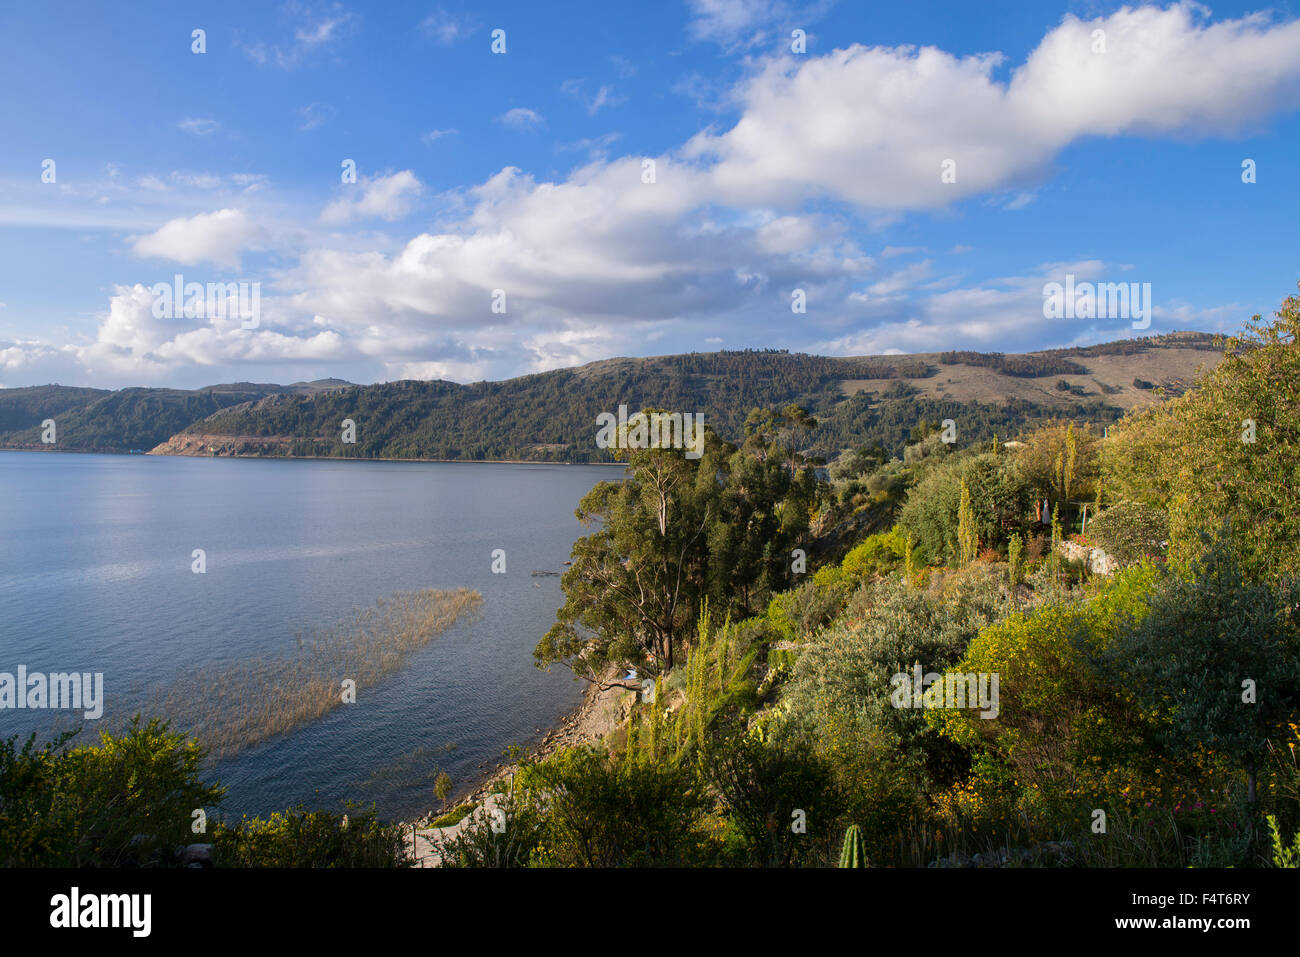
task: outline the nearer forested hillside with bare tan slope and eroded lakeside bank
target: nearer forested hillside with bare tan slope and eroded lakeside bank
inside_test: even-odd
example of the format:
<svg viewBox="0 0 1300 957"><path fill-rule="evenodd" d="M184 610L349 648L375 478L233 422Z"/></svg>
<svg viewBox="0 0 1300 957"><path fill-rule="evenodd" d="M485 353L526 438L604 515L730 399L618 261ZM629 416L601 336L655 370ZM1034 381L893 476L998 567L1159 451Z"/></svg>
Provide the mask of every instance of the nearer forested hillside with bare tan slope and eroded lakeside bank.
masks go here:
<svg viewBox="0 0 1300 957"><path fill-rule="evenodd" d="M1160 372L1150 373L1158 381L1148 385L1174 391L1200 363L1217 358L1205 351L1212 337L1201 334L1113 345L1105 355L1158 359L1152 364ZM1000 381L985 376L962 386L956 381L962 365ZM1060 416L1106 424L1154 400L1149 387L1134 385L1127 367L1127 378L1115 381L1102 365L1089 350L870 358L768 350L608 359L504 382L402 381L269 395L195 421L157 451L611 462L595 446L595 417L620 404L629 412L703 412L719 436L738 441L750 410L796 403L818 420L805 451L828 459L859 445L898 451L920 421L953 419L963 438L989 438ZM344 420L356 425L355 442L343 441Z"/></svg>

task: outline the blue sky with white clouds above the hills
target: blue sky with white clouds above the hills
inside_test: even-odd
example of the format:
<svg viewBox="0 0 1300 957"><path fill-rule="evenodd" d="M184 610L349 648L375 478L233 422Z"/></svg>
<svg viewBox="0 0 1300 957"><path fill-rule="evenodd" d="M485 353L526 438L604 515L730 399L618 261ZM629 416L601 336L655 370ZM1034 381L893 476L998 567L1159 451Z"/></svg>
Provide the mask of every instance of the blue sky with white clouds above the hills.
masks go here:
<svg viewBox="0 0 1300 957"><path fill-rule="evenodd" d="M1026 351L1135 334L1045 319L1066 273L1147 333L1300 278L1290 5L44 3L0 82L4 386Z"/></svg>

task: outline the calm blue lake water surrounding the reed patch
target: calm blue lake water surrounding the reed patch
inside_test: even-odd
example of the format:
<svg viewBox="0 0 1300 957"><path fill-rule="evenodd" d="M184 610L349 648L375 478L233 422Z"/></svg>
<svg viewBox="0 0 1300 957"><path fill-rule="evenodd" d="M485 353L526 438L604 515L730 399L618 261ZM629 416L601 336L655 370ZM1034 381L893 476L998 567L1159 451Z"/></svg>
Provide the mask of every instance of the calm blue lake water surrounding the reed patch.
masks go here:
<svg viewBox="0 0 1300 957"><path fill-rule="evenodd" d="M224 811L434 805L581 698L532 651L562 603L578 499L598 465L283 462L0 451L0 671L104 672L108 726L205 664L292 654L298 636L394 592L472 588L476 620L355 705L217 763ZM191 571L204 549L207 572ZM491 553L506 550L506 573ZM55 711L0 710L0 737ZM68 722L64 713L62 722ZM82 740L95 733L87 722Z"/></svg>

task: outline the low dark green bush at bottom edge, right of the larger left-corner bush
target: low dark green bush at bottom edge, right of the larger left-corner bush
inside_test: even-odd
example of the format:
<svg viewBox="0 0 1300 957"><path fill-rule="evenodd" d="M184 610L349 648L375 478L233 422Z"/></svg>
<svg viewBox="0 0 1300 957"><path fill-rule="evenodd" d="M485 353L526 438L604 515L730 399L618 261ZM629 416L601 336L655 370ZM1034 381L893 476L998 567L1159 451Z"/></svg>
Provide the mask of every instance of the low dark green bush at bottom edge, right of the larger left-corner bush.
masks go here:
<svg viewBox="0 0 1300 957"><path fill-rule="evenodd" d="M217 822L212 844L218 867L410 867L402 824L373 807L347 814L299 806L269 818Z"/></svg>

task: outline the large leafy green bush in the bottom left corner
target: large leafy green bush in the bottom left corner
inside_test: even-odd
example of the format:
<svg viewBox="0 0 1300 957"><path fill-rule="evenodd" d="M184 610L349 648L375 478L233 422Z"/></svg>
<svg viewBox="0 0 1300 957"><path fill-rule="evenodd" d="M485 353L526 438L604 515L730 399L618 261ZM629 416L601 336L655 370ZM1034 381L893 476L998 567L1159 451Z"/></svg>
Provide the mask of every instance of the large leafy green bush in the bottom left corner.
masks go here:
<svg viewBox="0 0 1300 957"><path fill-rule="evenodd" d="M224 793L200 779L202 759L183 733L139 718L98 745L0 741L0 866L170 865L195 840L192 811Z"/></svg>

